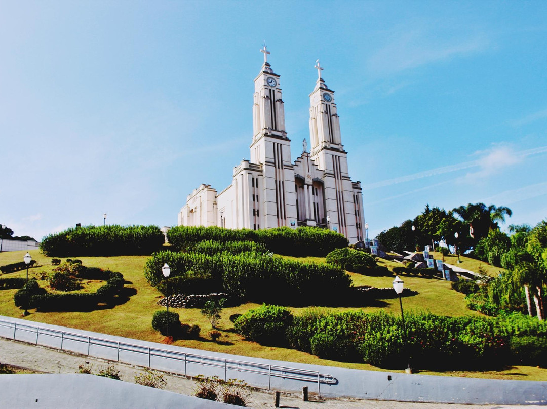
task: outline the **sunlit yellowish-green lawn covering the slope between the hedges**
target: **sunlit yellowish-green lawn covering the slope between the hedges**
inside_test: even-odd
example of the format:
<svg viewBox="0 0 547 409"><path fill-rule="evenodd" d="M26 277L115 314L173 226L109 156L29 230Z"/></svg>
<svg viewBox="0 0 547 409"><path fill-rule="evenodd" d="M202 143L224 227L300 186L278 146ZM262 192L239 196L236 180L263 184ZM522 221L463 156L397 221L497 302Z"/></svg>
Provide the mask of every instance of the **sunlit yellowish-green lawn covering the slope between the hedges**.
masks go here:
<svg viewBox="0 0 547 409"><path fill-rule="evenodd" d="M10 264L16 261L22 261L26 252L5 252L0 254L0 265ZM39 254L38 250L31 250L34 260L40 263L39 267L29 269L29 277L39 277L43 273L51 271L55 266L51 266L51 258ZM112 271L118 271L124 275L126 280L126 295L129 299L115 307L97 309L92 312L36 312L30 310L31 315L25 319L63 325L84 330L103 332L106 334L137 338L140 340L161 342L162 337L158 332L152 329L152 314L158 309L157 301L161 298L158 290L151 287L144 278L143 268L148 256L117 256L117 257L74 257L82 260L88 267L100 267ZM305 262L322 262L324 258L306 257L293 258ZM392 261L381 260L380 264L388 268L397 266ZM25 277L26 272L3 274L3 277ZM390 277L366 277L360 274L350 273L354 285L373 285L374 287L392 287L393 276ZM450 283L436 278L421 278L415 276L402 276L405 287L418 291L418 294L412 297L403 298L405 311L430 311L435 314L463 315L478 314L465 308L463 294L457 293L450 288ZM43 284L40 284L43 285ZM22 310L16 308L13 302L15 289L0 290L0 314L8 317L22 318ZM225 352L248 357L257 357L265 359L275 359L292 361L297 363L342 366L354 369L381 370L368 364L339 363L319 359L313 355L306 354L294 349L265 347L255 342L249 342L233 331L233 324L228 317L234 313L245 313L251 308L257 307L254 303L245 303L241 306L225 308L223 319L220 321L219 330L222 332L220 342L212 342L208 336L211 325L207 319L202 317L197 308L172 308L181 316L181 321L188 324L197 324L201 327L199 340L177 340L174 344L178 346ZM295 314L298 314L304 308L291 308ZM347 311L357 308L329 308L331 311ZM397 299L379 300L375 306L363 308L365 311L389 311L394 314L400 313L399 302ZM434 373L434 372L423 372ZM469 377L489 377L506 379L528 379L545 380L547 379L547 369L537 369L535 367L510 368L505 371L496 372L446 372L436 373L437 375L458 375ZM516 375L519 374L519 375Z"/></svg>

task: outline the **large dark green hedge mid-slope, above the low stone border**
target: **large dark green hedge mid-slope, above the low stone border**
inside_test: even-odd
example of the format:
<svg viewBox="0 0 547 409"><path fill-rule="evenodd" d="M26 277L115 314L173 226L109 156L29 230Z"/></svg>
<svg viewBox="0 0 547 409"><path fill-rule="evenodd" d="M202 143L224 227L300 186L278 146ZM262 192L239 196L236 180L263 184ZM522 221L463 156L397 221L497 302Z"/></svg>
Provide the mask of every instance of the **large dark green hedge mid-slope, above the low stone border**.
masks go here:
<svg viewBox="0 0 547 409"><path fill-rule="evenodd" d="M165 280L161 273L165 263L171 267L172 278L160 286ZM158 252L148 259L144 275L160 290L185 284L196 289L206 283L210 286L207 293L223 291L260 302L283 299L304 304L321 300L328 305L336 302L337 297L344 295L351 286L351 278L339 267L306 264L254 252L214 255ZM188 294L184 290L183 293Z"/></svg>

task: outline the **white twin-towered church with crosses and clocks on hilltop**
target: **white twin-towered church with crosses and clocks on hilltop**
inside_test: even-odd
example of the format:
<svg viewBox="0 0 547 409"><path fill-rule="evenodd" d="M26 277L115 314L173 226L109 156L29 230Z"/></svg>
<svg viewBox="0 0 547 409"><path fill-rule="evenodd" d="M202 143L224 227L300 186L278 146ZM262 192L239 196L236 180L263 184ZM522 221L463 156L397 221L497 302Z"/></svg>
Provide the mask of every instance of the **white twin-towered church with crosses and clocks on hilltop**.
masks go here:
<svg viewBox="0 0 547 409"><path fill-rule="evenodd" d="M285 129L280 75L267 62L254 80L250 160L234 167L231 185L218 192L202 184L187 198L178 225L269 229L318 226L335 230L350 243L364 241L360 182L348 174L334 91L321 78L310 94L310 145L294 162Z"/></svg>

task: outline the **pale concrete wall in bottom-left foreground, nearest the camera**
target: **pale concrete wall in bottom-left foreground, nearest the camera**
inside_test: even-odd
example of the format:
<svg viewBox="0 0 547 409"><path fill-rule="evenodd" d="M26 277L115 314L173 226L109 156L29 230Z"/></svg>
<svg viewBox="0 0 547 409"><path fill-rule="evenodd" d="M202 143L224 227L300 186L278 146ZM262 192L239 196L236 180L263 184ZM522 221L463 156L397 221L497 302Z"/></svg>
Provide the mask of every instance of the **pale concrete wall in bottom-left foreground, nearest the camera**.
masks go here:
<svg viewBox="0 0 547 409"><path fill-rule="evenodd" d="M0 376L1 407L59 409L125 408L229 409L193 396L83 373L9 374Z"/></svg>

